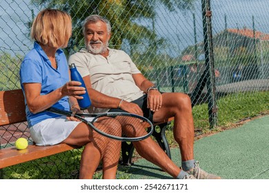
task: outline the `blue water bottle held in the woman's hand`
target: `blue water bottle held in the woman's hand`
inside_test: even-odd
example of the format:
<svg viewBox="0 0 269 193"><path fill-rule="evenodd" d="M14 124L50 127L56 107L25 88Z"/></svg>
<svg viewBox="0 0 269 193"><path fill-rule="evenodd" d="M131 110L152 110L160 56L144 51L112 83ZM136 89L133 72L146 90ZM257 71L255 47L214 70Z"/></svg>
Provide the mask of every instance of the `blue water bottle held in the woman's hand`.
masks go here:
<svg viewBox="0 0 269 193"><path fill-rule="evenodd" d="M74 65L74 63L71 63L69 65L69 69L70 69L70 73L71 73L71 80L81 82L81 86L83 88L86 88L85 83L84 83L81 75L79 74L79 71L77 71L76 65ZM81 108L81 110L90 107L90 105L92 103L90 102L90 96L88 94L87 89L86 89L86 93L81 94L80 96L83 96L83 99L77 99L77 102L79 103L79 107Z"/></svg>

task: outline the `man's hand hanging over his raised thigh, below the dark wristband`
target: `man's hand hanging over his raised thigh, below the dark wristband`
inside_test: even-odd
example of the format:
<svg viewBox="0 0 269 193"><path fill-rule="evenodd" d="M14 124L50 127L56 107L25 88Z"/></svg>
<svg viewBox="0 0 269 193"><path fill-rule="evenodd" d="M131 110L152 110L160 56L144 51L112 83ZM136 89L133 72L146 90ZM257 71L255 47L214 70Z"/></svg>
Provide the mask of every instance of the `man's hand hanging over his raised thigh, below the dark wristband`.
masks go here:
<svg viewBox="0 0 269 193"><path fill-rule="evenodd" d="M158 90L150 90L147 98L148 108L155 112L161 108L163 104L163 96Z"/></svg>

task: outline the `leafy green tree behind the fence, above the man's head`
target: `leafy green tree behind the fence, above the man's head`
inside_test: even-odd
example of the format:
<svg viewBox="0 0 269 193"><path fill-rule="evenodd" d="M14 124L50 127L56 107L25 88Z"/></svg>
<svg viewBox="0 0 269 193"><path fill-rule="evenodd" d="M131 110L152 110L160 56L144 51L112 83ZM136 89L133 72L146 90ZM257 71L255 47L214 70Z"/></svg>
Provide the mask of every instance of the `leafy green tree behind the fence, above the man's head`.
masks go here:
<svg viewBox="0 0 269 193"><path fill-rule="evenodd" d="M175 11L178 8L185 10L192 8L195 0L153 0L162 3L168 10ZM130 45L148 41L158 41L154 30L137 22L139 19L154 19L155 7L152 0L32 0L32 3L40 8L57 8L65 10L72 17L72 37L70 39L69 52L81 48L84 45L82 34L82 21L90 14L100 14L106 17L112 24L112 38L110 47L121 48L123 39L127 39Z"/></svg>

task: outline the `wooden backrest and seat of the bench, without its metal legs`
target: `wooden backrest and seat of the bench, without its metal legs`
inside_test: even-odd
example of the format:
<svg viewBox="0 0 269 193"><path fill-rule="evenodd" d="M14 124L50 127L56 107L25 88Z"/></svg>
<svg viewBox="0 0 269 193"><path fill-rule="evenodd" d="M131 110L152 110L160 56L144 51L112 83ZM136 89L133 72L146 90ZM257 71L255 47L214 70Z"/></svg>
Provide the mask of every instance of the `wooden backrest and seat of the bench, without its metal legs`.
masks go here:
<svg viewBox="0 0 269 193"><path fill-rule="evenodd" d="M16 134L16 128L4 127L5 125L11 125L14 123L26 122L25 105L22 90L8 90L0 91L0 145L2 147L8 147L14 144L16 136L10 136ZM26 123L27 124L27 123ZM12 130L8 132L8 130ZM8 134L8 136L7 136ZM30 134L26 131L25 136L30 137ZM19 134L18 134L19 136ZM6 144L3 144L6 143ZM32 161L45 156L58 154L68 150L73 150L74 146L61 143L52 146L37 146L28 145L25 150L17 150L16 147L11 146L0 150L0 169L11 165L16 165L26 161Z"/></svg>

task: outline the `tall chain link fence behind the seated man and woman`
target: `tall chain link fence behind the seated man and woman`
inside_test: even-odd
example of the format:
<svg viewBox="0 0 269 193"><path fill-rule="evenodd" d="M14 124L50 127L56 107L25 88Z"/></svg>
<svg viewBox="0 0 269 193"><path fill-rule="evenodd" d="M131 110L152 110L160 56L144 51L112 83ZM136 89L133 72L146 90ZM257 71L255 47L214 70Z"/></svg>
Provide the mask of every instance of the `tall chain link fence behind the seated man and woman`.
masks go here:
<svg viewBox="0 0 269 193"><path fill-rule="evenodd" d="M32 49L30 26L40 10L72 16L67 57L83 48L83 19L101 14L112 23L110 48L130 54L161 92L190 95L197 130L227 125L235 111L243 115L227 122L269 110L268 6L266 0L1 0L0 90L20 88L19 67ZM263 108L235 109L241 101ZM12 143L0 139L2 147Z"/></svg>

